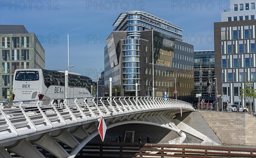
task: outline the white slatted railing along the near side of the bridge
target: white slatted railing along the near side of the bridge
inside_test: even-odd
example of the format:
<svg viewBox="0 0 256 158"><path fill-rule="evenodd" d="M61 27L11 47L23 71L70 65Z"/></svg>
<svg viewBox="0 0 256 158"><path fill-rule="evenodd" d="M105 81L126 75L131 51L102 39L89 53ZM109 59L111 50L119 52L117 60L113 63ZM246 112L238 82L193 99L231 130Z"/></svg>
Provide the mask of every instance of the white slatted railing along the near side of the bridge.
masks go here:
<svg viewBox="0 0 256 158"><path fill-rule="evenodd" d="M193 111L191 104L152 97L99 97L0 103L0 141L64 126L156 110ZM7 106L6 106L7 105ZM15 105L16 107L11 107Z"/></svg>

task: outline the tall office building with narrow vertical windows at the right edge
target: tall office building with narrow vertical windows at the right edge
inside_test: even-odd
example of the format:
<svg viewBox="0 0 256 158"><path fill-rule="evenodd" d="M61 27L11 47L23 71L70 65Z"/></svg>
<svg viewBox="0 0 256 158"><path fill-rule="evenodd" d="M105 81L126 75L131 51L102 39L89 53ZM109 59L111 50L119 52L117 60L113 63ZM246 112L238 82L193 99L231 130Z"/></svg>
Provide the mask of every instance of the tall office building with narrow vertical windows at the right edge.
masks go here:
<svg viewBox="0 0 256 158"><path fill-rule="evenodd" d="M239 99L244 82L256 89L255 0L230 0L230 9L214 23L215 76L218 79L219 109L226 104L248 106ZM252 107L255 109L256 100Z"/></svg>

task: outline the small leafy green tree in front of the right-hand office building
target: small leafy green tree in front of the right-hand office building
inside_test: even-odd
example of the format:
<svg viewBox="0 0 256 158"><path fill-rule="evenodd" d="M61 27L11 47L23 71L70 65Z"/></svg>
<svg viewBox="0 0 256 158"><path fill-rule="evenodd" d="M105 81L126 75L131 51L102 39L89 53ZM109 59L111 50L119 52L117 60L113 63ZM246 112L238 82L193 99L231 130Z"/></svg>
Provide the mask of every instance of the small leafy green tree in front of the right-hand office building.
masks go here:
<svg viewBox="0 0 256 158"><path fill-rule="evenodd" d="M239 98L247 100L247 102L253 101L253 98L256 98L256 90L253 89L253 84L251 82L244 82L244 88L240 90ZM251 106L251 104L250 104ZM249 108L250 111L250 108ZM248 111L248 112L249 112Z"/></svg>

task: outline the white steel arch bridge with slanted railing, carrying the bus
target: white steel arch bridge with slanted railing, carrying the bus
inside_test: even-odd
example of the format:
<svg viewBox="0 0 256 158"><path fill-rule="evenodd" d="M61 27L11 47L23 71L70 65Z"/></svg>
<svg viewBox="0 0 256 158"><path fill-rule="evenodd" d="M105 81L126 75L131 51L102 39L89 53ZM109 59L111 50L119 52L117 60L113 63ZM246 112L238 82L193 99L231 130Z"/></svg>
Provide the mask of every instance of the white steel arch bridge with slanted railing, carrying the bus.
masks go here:
<svg viewBox="0 0 256 158"><path fill-rule="evenodd" d="M175 126L179 113L194 111L191 104L175 99L152 97L99 97L37 100L0 103L0 157L11 158L9 152L21 157L45 156L41 147L56 157L74 158L99 134L99 119L107 129L123 124L149 124L175 131L179 137L169 144L182 144L186 134ZM15 104L17 107L10 107ZM72 150L65 150L58 142ZM9 152L8 152L9 151Z"/></svg>

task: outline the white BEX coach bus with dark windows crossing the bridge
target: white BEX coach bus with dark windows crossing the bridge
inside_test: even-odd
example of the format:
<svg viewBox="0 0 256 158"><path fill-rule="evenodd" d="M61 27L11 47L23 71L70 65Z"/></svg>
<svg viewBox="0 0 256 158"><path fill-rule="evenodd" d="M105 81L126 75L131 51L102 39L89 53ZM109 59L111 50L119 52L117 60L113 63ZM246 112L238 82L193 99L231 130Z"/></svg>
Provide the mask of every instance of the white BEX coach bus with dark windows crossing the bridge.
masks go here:
<svg viewBox="0 0 256 158"><path fill-rule="evenodd" d="M68 98L92 97L92 79L78 73L68 74ZM65 98L64 71L44 69L17 69L13 79L13 101L54 99L53 104L62 107ZM24 102L21 107L34 107L35 101ZM50 101L42 101L40 105L48 105ZM18 103L14 106L19 106Z"/></svg>

